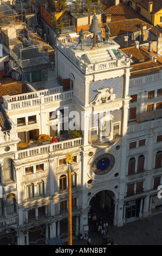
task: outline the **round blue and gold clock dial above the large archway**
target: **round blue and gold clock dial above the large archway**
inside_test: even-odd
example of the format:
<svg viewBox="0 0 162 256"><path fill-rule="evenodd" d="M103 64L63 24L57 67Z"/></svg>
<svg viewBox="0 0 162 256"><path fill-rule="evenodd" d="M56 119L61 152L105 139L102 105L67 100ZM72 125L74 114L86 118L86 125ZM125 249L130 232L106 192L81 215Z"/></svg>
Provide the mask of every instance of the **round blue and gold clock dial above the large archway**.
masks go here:
<svg viewBox="0 0 162 256"><path fill-rule="evenodd" d="M114 164L115 158L113 155L102 154L98 156L92 164L93 173L96 175L104 175L113 169Z"/></svg>

